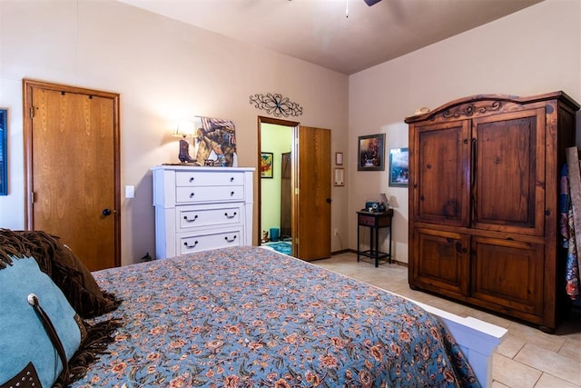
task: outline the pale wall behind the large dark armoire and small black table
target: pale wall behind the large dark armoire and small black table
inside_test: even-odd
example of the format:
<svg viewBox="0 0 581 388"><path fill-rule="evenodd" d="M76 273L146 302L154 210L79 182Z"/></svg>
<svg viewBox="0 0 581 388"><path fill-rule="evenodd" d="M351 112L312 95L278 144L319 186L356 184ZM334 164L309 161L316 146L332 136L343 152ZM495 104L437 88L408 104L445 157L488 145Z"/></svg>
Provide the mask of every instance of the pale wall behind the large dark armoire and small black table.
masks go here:
<svg viewBox="0 0 581 388"><path fill-rule="evenodd" d="M349 153L357 138L386 134L386 148L408 145L406 116L479 94L539 95L563 90L581 102L581 2L546 0L513 15L350 76ZM581 131L581 117L577 127ZM577 136L579 139L580 136ZM577 140L579 141L579 140ZM355 162L353 162L355 163ZM349 224L369 197L387 192L399 207L394 255L408 262L408 190L385 172L349 169ZM349 245L356 245L355 229Z"/></svg>

